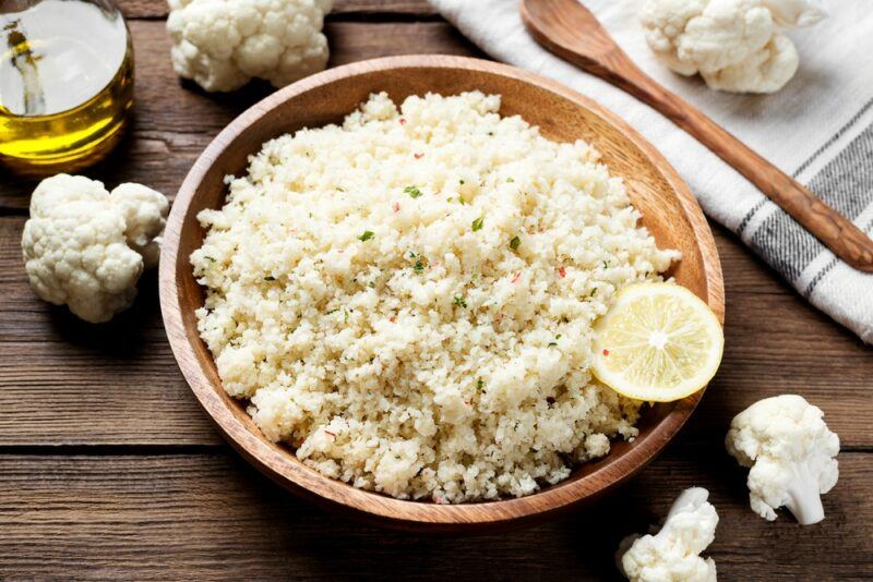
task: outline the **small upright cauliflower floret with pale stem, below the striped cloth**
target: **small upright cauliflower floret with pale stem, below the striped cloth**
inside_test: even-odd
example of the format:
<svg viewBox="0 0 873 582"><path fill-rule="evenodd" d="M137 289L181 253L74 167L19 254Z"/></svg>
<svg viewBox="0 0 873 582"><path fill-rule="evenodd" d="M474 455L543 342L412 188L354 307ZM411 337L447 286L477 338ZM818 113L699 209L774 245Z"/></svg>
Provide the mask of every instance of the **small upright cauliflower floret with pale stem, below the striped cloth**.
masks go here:
<svg viewBox="0 0 873 582"><path fill-rule="evenodd" d="M802 525L825 518L820 494L837 484L839 437L823 416L796 395L765 398L734 416L725 445L741 465L752 468L749 499L762 518L775 520L782 506Z"/></svg>

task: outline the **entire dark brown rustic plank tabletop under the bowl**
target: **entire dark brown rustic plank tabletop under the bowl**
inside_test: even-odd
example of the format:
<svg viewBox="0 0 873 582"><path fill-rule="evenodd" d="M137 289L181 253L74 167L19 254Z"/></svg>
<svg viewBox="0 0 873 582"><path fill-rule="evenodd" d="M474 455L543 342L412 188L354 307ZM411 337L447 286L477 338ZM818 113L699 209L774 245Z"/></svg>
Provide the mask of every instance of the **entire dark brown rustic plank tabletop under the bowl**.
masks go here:
<svg viewBox="0 0 873 582"><path fill-rule="evenodd" d="M121 2L136 50L136 117L87 172L171 195L198 154L263 97L210 96L169 63L166 8ZM340 0L332 64L415 52L480 56L423 0ZM33 181L0 173L0 579L216 577L615 578L619 539L662 516L684 487L711 492L709 549L722 580L873 579L873 357L713 225L727 287L725 363L690 425L625 487L534 530L417 537L326 514L228 449L179 374L154 274L136 306L91 327L38 301L20 239ZM804 395L842 441L827 519L769 523L749 509L745 473L721 444L753 401Z"/></svg>

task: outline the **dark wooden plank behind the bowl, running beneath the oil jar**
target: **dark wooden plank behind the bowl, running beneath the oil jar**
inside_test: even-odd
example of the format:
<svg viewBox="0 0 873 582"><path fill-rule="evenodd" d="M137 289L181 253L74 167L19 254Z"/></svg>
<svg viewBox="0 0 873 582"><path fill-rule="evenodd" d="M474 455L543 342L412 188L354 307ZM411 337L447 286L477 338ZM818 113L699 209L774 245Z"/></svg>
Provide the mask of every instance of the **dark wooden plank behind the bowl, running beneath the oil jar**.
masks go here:
<svg viewBox="0 0 873 582"><path fill-rule="evenodd" d="M118 148L82 173L109 185L144 182L174 195L212 138L273 89L255 83L229 95L205 94L191 83L180 83L172 71L170 40L163 22L134 21L131 32L136 53L135 118ZM391 54L478 54L444 22L331 23L326 32L332 66ZM26 209L36 183L0 167L0 210Z"/></svg>

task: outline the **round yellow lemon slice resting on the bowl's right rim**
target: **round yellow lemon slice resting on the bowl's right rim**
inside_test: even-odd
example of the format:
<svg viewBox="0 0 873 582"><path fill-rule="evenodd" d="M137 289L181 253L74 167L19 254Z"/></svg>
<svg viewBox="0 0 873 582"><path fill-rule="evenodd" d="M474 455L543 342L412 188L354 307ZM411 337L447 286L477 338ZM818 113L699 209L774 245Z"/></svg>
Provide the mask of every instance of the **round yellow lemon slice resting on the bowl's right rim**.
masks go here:
<svg viewBox="0 0 873 582"><path fill-rule="evenodd" d="M723 347L718 318L697 295L673 283L637 283L595 326L594 374L629 398L671 402L713 379Z"/></svg>

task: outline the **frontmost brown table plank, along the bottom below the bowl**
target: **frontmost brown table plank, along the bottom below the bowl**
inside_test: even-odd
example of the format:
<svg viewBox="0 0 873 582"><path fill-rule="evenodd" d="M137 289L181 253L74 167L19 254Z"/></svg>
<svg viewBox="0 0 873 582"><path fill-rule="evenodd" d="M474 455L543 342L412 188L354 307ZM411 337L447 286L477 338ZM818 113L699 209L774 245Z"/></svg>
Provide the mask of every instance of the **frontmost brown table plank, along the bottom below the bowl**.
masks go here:
<svg viewBox="0 0 873 582"><path fill-rule="evenodd" d="M708 444L672 449L596 506L534 530L418 537L358 525L297 500L234 454L0 456L0 578L615 578L619 541L684 487L719 512L708 554L725 580L873 577L873 465L840 457L826 520L767 522L744 473ZM593 524L596 524L593 526Z"/></svg>

